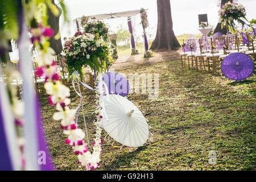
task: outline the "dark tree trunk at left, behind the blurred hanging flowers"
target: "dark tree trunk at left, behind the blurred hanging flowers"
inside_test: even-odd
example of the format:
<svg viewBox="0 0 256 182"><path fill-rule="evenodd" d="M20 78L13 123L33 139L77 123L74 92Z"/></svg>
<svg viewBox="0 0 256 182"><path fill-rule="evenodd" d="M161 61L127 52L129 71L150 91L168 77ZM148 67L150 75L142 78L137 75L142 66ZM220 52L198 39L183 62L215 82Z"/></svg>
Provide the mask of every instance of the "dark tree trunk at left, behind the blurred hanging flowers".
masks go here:
<svg viewBox="0 0 256 182"><path fill-rule="evenodd" d="M52 3L55 4L54 0L52 0ZM61 12L61 9L59 8L59 11ZM59 33L60 31L60 27L59 27L59 19L60 19L60 14L59 16L55 16L52 14L51 10L47 10L48 12L48 20L47 23L49 24L49 26L51 26L52 30L53 30L53 35L52 37L49 39L49 43L50 43L50 47L55 51L56 55L58 55L63 47L61 44L61 39L55 39L55 35Z"/></svg>

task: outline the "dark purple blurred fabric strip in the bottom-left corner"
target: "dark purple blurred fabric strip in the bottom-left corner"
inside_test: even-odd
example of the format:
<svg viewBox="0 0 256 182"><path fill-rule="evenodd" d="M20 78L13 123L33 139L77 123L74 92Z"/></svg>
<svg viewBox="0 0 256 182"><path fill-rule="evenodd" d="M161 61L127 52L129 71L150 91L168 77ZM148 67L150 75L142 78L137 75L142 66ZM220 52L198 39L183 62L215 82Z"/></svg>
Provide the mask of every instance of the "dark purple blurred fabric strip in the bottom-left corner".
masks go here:
<svg viewBox="0 0 256 182"><path fill-rule="evenodd" d="M1 97L1 96L0 96ZM0 98L1 100L1 98ZM13 166L11 164L11 156L9 153L9 147L7 145L6 135L5 135L5 127L3 126L3 114L2 114L2 106L0 101L0 171L11 171L13 170Z"/></svg>

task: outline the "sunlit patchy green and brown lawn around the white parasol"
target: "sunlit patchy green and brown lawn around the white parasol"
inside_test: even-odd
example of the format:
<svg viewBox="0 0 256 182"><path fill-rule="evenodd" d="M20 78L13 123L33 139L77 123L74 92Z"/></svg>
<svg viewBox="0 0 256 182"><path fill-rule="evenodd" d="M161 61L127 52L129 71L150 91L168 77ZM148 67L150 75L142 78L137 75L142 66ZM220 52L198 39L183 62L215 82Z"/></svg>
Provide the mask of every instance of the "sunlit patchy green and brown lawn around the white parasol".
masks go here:
<svg viewBox="0 0 256 182"><path fill-rule="evenodd" d="M155 59L152 57L148 60ZM121 147L106 138L97 170L255 170L255 76L236 82L204 71L182 69L179 59L137 64L115 69L122 73L158 73L159 97L127 96L141 106L150 133L142 147ZM71 89L72 108L80 98ZM40 95L44 129L53 163L58 170L84 169L71 146L64 143L60 122L53 121L53 106ZM89 137L94 134L93 93L84 89L85 118ZM80 112L81 113L81 112ZM82 114L79 127L84 129ZM106 136L105 131L102 138ZM113 143L114 142L114 143ZM92 143L92 142L91 142ZM216 164L209 164L209 152Z"/></svg>

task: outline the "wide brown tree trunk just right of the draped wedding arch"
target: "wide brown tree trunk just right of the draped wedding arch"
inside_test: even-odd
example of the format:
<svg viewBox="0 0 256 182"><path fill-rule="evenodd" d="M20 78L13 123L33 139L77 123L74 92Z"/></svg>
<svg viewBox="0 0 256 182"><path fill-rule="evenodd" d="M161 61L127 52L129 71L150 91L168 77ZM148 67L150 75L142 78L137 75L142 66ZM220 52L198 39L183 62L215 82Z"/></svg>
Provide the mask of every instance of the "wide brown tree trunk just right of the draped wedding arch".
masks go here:
<svg viewBox="0 0 256 182"><path fill-rule="evenodd" d="M177 50L180 47L179 42L172 30L172 15L170 0L157 0L158 5L158 29L156 37L150 49L160 50Z"/></svg>

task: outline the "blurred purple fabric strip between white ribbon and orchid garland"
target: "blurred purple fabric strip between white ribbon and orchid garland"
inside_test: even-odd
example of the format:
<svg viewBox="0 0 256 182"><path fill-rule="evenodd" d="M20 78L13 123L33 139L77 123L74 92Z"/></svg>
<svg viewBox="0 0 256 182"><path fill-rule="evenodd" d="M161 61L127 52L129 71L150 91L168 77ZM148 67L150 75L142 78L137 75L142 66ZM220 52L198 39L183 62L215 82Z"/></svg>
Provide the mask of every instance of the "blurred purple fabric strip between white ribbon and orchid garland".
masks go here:
<svg viewBox="0 0 256 182"><path fill-rule="evenodd" d="M54 168L51 163L51 157L47 148L46 138L44 135L43 122L40 114L40 105L38 97L35 95L35 106L36 106L36 130L38 135L38 151L43 151L46 154L45 164L39 164L40 171L53 171Z"/></svg>

